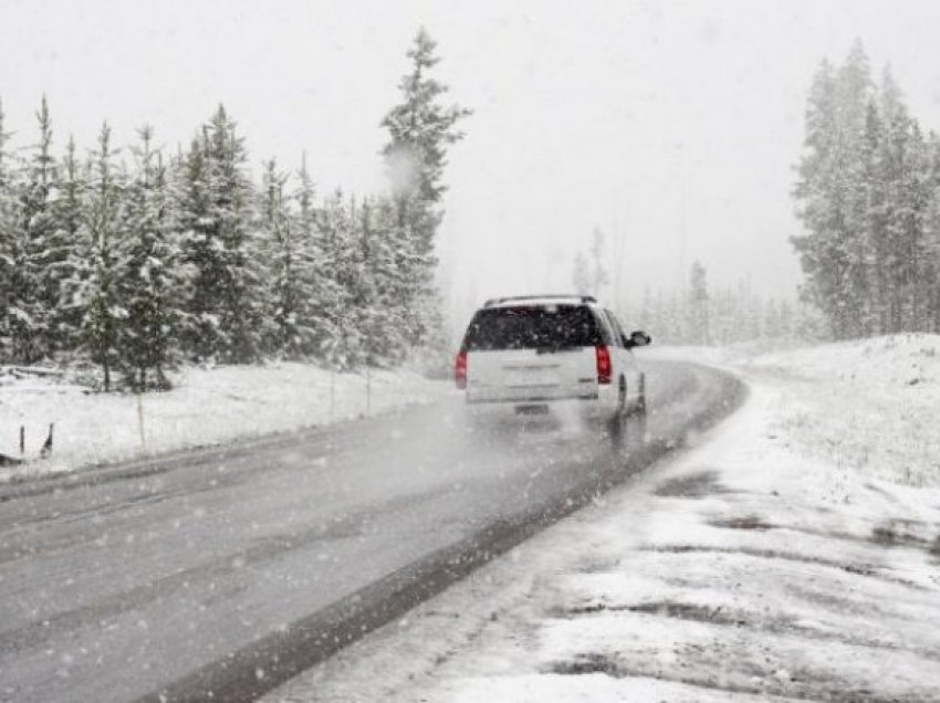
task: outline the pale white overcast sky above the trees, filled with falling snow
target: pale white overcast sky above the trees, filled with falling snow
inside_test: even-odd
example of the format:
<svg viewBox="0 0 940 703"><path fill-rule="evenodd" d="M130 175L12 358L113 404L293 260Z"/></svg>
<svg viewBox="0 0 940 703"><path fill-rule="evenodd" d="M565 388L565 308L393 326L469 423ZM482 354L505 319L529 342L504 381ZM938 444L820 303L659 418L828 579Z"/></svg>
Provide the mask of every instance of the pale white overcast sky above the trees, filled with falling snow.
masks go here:
<svg viewBox="0 0 940 703"><path fill-rule="evenodd" d="M58 145L144 123L173 148L223 102L257 166L306 149L322 190L384 189L378 122L425 24L476 113L453 147L442 231L461 308L566 290L600 227L619 287L749 279L788 294L790 189L812 74L860 38L940 127L940 3L573 0L0 0L0 97L20 144L49 96ZM613 291L608 291L608 295Z"/></svg>

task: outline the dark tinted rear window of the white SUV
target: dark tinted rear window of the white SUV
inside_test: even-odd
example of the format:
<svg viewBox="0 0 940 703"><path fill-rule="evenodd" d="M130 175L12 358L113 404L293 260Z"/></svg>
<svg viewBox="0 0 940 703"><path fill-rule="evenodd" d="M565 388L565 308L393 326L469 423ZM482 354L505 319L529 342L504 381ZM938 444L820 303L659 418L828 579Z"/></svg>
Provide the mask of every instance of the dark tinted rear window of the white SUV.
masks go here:
<svg viewBox="0 0 940 703"><path fill-rule="evenodd" d="M584 305L488 307L470 322L467 352L593 347L600 342L594 313Z"/></svg>

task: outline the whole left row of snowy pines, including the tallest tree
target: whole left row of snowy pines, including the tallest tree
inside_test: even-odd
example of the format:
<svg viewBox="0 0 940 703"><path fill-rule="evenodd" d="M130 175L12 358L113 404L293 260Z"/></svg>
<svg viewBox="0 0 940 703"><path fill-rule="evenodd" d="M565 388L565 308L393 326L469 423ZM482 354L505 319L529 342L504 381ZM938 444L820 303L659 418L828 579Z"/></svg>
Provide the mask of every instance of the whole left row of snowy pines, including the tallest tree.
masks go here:
<svg viewBox="0 0 940 703"><path fill-rule="evenodd" d="M407 52L401 102L382 120L391 187L321 196L306 157L252 180L220 106L187 148L152 127L122 149L56 150L43 97L34 146L9 148L0 108L0 361L91 359L103 387L167 387L180 359L395 365L445 344L434 288L447 146L468 114Z"/></svg>

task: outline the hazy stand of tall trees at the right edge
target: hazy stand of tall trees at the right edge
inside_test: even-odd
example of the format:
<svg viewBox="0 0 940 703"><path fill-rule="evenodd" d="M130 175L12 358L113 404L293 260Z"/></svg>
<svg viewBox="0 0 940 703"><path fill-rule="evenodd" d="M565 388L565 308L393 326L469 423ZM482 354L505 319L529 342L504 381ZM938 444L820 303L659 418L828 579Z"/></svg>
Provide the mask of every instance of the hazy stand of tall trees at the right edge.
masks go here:
<svg viewBox="0 0 940 703"><path fill-rule="evenodd" d="M823 61L794 189L805 285L836 339L940 332L940 138L925 135L860 42Z"/></svg>

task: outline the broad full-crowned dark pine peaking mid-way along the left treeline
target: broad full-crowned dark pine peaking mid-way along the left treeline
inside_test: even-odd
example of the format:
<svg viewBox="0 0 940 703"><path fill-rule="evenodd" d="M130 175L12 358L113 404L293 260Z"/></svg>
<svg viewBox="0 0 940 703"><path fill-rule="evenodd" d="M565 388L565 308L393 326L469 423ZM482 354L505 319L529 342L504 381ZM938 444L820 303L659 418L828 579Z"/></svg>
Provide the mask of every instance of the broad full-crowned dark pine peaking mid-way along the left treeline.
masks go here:
<svg viewBox="0 0 940 703"><path fill-rule="evenodd" d="M188 343L201 359L244 364L261 352L263 285L244 161L220 105L192 143L180 208L186 259L197 272Z"/></svg>

